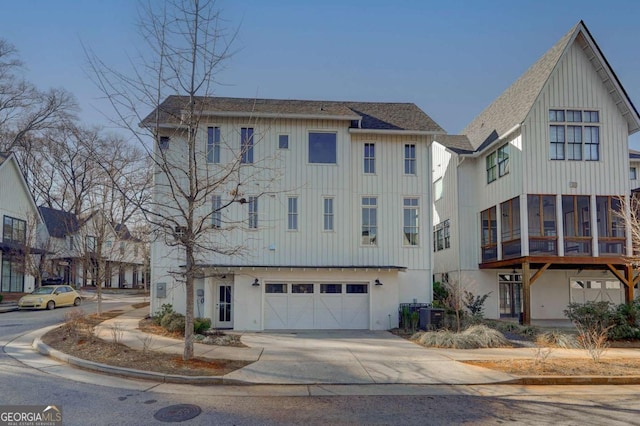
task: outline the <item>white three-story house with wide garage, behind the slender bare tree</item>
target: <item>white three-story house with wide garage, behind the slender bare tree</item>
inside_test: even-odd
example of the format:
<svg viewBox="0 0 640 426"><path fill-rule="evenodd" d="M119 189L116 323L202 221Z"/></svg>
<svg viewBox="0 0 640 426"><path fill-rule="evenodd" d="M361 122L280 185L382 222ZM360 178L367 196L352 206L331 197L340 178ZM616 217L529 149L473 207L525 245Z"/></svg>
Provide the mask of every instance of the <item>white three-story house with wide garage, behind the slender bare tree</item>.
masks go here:
<svg viewBox="0 0 640 426"><path fill-rule="evenodd" d="M179 157L186 149L173 117L181 116L187 100L171 96L160 106L157 149L165 155ZM246 173L271 169L280 177L242 186L248 202L212 216L211 238L228 238L245 252L199 253L195 316L238 330L386 330L398 326L400 303L431 300L429 148L444 131L417 106L236 98L197 103L203 111L198 161L209 163L207 173L244 148ZM160 171L156 202L163 195L158 179ZM228 191L211 194L199 214L211 214L230 197ZM184 256L164 238L151 252L151 311L172 304L184 312L185 287L176 274Z"/></svg>

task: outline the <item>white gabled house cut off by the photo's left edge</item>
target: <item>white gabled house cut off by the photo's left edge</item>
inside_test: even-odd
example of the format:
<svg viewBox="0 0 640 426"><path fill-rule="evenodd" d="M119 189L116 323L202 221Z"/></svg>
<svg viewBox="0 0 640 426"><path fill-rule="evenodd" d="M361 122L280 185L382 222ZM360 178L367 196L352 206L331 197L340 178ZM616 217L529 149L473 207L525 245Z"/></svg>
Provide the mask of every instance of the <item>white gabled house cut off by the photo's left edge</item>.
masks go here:
<svg viewBox="0 0 640 426"><path fill-rule="evenodd" d="M37 246L35 236L43 231L42 219L11 153L0 153L0 216L0 293L29 293L36 279L25 256L40 256L41 251L31 246Z"/></svg>

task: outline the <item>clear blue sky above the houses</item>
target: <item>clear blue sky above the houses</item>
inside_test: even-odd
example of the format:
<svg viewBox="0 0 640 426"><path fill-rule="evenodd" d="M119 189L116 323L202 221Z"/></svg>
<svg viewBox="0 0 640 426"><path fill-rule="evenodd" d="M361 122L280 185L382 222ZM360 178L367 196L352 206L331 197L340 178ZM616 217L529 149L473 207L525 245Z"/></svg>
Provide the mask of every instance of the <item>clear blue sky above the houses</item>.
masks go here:
<svg viewBox="0 0 640 426"><path fill-rule="evenodd" d="M239 28L220 96L414 102L458 133L580 19L640 108L637 0L219 0ZM0 37L40 88L105 124L81 41L118 66L137 42L133 0L5 1ZM640 149L640 135L631 139Z"/></svg>

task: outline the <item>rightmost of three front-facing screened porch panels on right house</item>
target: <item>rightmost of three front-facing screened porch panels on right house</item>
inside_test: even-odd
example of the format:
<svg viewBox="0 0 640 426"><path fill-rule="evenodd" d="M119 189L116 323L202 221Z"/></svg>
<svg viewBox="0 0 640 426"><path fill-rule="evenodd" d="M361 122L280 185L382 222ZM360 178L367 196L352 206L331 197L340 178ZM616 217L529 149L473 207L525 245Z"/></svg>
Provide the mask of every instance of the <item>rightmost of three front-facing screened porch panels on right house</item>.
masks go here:
<svg viewBox="0 0 640 426"><path fill-rule="evenodd" d="M622 203L617 197L596 197L598 251L601 255L625 253L625 228L621 212Z"/></svg>

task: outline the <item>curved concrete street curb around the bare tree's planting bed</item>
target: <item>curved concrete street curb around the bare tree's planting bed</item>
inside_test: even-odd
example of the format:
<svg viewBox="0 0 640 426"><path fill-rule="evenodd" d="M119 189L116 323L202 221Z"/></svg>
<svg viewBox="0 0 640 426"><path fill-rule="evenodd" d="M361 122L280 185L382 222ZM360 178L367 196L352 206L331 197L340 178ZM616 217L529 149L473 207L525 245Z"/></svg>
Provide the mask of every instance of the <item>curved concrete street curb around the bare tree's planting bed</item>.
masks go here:
<svg viewBox="0 0 640 426"><path fill-rule="evenodd" d="M241 380L225 379L224 376L181 376L177 374L156 373L153 371L135 370L133 368L116 367L113 365L100 364L85 359L60 352L57 349L45 344L40 337L36 337L32 343L33 349L41 355L49 356L69 365L84 368L86 370L97 371L110 375L117 375L135 379L152 380L162 383L188 384L188 385L249 385Z"/></svg>

